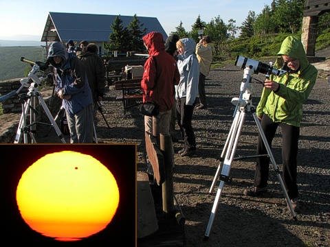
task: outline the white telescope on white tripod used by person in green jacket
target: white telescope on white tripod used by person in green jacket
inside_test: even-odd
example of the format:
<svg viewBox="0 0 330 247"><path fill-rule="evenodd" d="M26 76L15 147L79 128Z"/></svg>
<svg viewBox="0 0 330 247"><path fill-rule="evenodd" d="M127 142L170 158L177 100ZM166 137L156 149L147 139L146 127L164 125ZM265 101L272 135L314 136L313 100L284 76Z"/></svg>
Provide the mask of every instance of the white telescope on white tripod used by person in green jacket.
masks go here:
<svg viewBox="0 0 330 247"><path fill-rule="evenodd" d="M236 106L234 111L234 121L232 122L232 126L230 128L230 132L228 134L228 138L225 141L225 146L223 148L223 151L221 153L220 163L217 168L217 172L214 176L214 179L212 181L212 185L210 187L209 193L212 193L215 187L215 183L217 183L217 180L220 180L219 187L217 189L217 194L215 196L215 200L213 203L210 220L208 222L208 226L206 228L206 233L204 235L204 240L208 240L208 237L210 236L210 231L212 228L212 224L214 222L215 214L217 213L217 208L219 206L219 200L221 197L221 193L223 192L223 187L225 183L231 180L229 174L230 174L230 168L232 165L232 162L234 161L234 155L236 152L237 145L239 143L239 137L241 135L241 130L243 128L244 119L246 113L250 112L252 113L252 116L254 118L254 121L256 122L256 126L258 127L259 133L263 139L263 142L265 144L265 147L267 149L267 156L270 157L270 161L272 162L274 171L276 172L276 175L278 177L278 180L281 184L281 188L283 190L283 193L285 195L285 199L287 201L287 204L289 205L289 209L294 217L294 220L297 220L296 213L294 212L294 209L292 207L292 202L289 199L289 196L287 194L287 190L285 189L285 185L283 183L283 180L281 178L281 172L279 171L274 156L272 154L272 151L270 149L270 145L267 143L267 139L265 137L265 134L263 132L263 129L261 127L261 123L256 116L256 109L252 105L252 95L254 93L254 88L252 85L252 74L258 74L263 73L265 74L266 78L269 78L270 75L277 75L281 76L287 73L287 64L284 64L284 66L281 69L275 69L272 66L272 63L265 64L263 62L258 62L255 60L252 60L250 58L245 58L242 56L236 57L235 66L241 67L243 69L243 80L241 81L241 92L239 97L232 98L232 104ZM260 82L260 81L259 81ZM263 84L263 82L261 82Z"/></svg>

